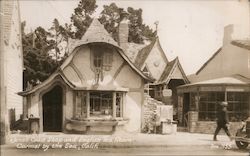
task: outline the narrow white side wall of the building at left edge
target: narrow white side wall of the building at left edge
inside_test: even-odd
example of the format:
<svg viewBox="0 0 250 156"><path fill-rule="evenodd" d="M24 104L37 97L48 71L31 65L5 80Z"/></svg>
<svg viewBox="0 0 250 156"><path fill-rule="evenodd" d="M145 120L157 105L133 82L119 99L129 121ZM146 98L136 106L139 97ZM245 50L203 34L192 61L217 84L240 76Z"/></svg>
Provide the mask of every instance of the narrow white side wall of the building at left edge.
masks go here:
<svg viewBox="0 0 250 156"><path fill-rule="evenodd" d="M13 1L13 12L10 25L9 43L4 47L6 63L6 103L7 108L15 108L16 120L23 112L23 98L17 95L23 90L23 56L21 40L21 23L19 18L19 6Z"/></svg>

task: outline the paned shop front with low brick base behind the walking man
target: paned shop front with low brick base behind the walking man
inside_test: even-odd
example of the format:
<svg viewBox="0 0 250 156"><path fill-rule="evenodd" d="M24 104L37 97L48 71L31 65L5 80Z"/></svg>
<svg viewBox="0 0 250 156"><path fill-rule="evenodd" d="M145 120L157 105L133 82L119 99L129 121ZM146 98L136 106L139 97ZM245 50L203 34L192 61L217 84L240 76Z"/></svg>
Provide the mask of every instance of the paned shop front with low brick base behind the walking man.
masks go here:
<svg viewBox="0 0 250 156"><path fill-rule="evenodd" d="M231 131L250 114L250 86L190 84L178 87L178 120L189 132L213 133L219 104L228 102Z"/></svg>

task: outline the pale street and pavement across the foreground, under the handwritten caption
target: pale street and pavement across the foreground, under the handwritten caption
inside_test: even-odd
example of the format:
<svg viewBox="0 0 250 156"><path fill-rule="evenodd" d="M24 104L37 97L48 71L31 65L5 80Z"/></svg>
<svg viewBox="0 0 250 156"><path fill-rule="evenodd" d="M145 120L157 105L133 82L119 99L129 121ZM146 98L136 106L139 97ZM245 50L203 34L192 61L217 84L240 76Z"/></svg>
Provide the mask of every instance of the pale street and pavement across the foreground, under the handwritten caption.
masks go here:
<svg viewBox="0 0 250 156"><path fill-rule="evenodd" d="M177 132L161 134L73 135L43 133L12 134L1 156L9 155L250 155L239 150L226 135Z"/></svg>

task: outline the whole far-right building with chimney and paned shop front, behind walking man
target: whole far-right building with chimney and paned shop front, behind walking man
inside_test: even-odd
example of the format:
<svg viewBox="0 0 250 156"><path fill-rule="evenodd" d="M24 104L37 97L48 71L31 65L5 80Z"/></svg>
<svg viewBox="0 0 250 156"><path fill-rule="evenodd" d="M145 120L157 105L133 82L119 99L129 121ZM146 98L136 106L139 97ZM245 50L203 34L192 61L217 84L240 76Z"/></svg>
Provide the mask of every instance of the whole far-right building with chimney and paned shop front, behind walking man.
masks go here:
<svg viewBox="0 0 250 156"><path fill-rule="evenodd" d="M250 41L232 40L233 26L225 28L223 46L178 87L179 121L190 132L213 133L221 101L228 102L231 131L250 115Z"/></svg>

